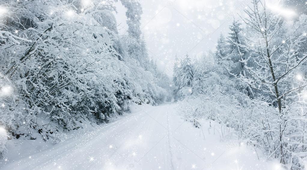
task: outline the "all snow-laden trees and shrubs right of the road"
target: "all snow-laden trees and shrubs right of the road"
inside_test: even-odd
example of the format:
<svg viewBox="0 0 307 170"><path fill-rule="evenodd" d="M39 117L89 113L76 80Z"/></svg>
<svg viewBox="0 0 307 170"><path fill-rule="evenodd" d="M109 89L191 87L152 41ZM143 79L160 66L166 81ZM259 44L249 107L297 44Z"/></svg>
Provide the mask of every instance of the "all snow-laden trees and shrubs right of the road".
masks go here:
<svg viewBox="0 0 307 170"><path fill-rule="evenodd" d="M286 169L304 169L306 145L306 16L287 23L253 1L247 18L220 37L215 63L194 63L193 94L180 102L187 120L207 118L234 128Z"/></svg>

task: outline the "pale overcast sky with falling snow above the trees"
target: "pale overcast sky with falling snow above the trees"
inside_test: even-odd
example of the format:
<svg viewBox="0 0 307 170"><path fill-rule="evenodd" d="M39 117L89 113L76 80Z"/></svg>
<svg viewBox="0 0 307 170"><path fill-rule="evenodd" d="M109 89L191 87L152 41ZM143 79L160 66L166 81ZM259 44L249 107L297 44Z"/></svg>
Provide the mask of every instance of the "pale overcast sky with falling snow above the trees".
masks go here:
<svg viewBox="0 0 307 170"><path fill-rule="evenodd" d="M306 10L306 0L294 0L296 6L287 6L282 0L268 0L276 13L288 19L297 15L297 9ZM294 2L292 1L292 2ZM220 34L228 36L233 17L244 16L243 9L251 0L141 0L143 8L142 32L150 58L157 60L159 70L171 65L175 55L188 52L192 59L202 51L215 50ZM120 33L126 32L125 8L118 2L116 19ZM237 14L238 13L238 14ZM171 73L169 73L171 74Z"/></svg>

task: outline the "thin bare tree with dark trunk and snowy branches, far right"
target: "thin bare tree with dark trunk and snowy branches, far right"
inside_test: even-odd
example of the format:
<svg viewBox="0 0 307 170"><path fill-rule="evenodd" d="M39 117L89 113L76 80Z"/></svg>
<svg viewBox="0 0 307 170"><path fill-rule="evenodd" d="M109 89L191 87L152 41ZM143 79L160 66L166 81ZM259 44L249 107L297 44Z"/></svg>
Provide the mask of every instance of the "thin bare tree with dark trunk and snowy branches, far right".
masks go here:
<svg viewBox="0 0 307 170"><path fill-rule="evenodd" d="M261 139L258 141L263 144L262 147L270 147L270 149L267 148L269 154L279 157L281 163L288 164L290 166L288 168L295 168L301 166L302 161L306 159L306 151L297 148L304 143L305 130L303 129L305 129L306 121L303 117L305 116L300 113L293 114L295 108L303 109L304 107L295 101L299 100L297 95L291 95L304 93L302 89L306 86L305 83L295 83L293 80L297 69L307 58L306 53L297 55L306 41L306 36L302 33L294 36L297 28L287 31L285 20L272 14L263 4L262 1L254 0L251 10L246 10L248 18L243 19L249 26L249 31L254 31L252 37L248 38L255 43L254 46L231 42L238 49L250 50L251 56L255 58L254 62L258 65L257 69L244 66L250 75L242 74L240 77L242 82L274 96L271 103L277 108L275 114L278 117L274 119L278 125L272 127L271 124L271 127L268 127L270 126L268 123L264 128L278 129L278 131L270 134L274 142L260 142ZM290 141L295 141L295 143Z"/></svg>

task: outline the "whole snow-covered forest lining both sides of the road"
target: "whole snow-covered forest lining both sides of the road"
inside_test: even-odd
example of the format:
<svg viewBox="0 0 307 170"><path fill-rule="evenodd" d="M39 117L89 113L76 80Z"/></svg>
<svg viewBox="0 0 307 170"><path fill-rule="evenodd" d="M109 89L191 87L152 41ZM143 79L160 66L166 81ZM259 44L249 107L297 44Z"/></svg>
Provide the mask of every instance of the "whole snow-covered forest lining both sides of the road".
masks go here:
<svg viewBox="0 0 307 170"><path fill-rule="evenodd" d="M288 22L252 0L215 51L176 55L168 76L149 57L141 3L120 0L125 34L115 3L0 0L1 158L11 141L58 144L63 134L116 124L134 105L172 102L195 127L216 122L222 137L233 129L239 145L282 168L306 168L306 14Z"/></svg>

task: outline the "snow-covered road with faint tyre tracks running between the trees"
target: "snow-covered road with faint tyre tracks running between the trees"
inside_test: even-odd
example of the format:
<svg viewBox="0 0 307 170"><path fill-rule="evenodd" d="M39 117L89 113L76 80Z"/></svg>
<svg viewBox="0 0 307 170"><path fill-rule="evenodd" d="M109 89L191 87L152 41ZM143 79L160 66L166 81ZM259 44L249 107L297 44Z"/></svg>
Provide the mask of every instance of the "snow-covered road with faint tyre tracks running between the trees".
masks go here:
<svg viewBox="0 0 307 170"><path fill-rule="evenodd" d="M193 127L177 114L178 107L172 103L134 105L131 114L78 139L68 138L45 150L36 148L41 150L36 153L19 150L20 156L15 157L14 153L8 153L0 167L10 170L282 169L274 161L262 159L254 148L238 146L235 137L225 137L229 130L223 129L222 134L220 125L212 123L210 127L208 121L201 120L201 128Z"/></svg>

